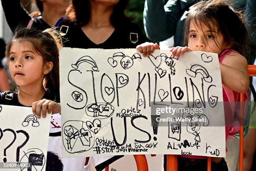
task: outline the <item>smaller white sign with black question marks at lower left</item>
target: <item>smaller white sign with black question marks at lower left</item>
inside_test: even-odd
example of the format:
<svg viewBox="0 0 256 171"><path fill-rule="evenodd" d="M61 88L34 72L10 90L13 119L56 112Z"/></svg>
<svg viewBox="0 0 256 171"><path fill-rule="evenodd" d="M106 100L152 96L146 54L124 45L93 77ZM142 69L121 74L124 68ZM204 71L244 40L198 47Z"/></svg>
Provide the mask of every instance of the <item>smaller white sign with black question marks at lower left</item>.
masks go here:
<svg viewBox="0 0 256 171"><path fill-rule="evenodd" d="M0 170L45 170L50 115L37 119L30 107L0 106Z"/></svg>

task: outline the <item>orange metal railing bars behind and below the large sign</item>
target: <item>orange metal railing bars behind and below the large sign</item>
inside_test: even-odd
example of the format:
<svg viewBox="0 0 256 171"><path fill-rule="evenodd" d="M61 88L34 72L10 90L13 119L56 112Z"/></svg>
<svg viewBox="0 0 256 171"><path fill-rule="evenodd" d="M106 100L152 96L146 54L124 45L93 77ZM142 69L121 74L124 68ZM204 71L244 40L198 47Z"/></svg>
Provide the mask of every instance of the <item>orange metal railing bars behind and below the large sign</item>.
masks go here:
<svg viewBox="0 0 256 171"><path fill-rule="evenodd" d="M250 77L256 77L256 65L248 65L248 74ZM241 93L240 101L243 102L244 94ZM243 105L243 103L240 103ZM240 108L240 116L243 119L243 106ZM243 126L240 126L240 153L239 153L239 171L243 171ZM138 171L148 171L148 163L145 155L134 155ZM167 171L178 171L178 156L167 155ZM207 171L211 170L211 157L207 157ZM108 167L105 169L108 171Z"/></svg>

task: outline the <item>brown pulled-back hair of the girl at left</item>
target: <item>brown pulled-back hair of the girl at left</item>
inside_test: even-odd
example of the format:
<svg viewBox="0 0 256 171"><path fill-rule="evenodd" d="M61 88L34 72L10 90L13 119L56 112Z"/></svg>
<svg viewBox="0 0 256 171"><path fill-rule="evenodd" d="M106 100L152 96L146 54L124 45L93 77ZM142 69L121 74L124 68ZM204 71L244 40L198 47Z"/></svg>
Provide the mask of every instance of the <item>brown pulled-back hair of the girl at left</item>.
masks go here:
<svg viewBox="0 0 256 171"><path fill-rule="evenodd" d="M43 86L50 90L51 93L49 95L51 100L59 100L59 50L62 45L59 33L53 28L46 29L43 32L34 28L17 28L13 39L6 46L5 55L8 62L10 48L17 41L31 42L34 50L43 57L44 64L46 62L53 62L51 71L44 77Z"/></svg>

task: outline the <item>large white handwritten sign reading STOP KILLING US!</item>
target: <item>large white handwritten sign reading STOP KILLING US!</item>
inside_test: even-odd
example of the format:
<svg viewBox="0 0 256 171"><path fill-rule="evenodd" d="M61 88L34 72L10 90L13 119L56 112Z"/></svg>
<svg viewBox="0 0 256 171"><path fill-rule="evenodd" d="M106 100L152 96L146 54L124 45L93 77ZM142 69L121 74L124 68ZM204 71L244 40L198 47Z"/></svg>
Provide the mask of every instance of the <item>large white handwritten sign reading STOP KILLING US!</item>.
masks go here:
<svg viewBox="0 0 256 171"><path fill-rule="evenodd" d="M225 156L217 54L62 48L60 94L64 157Z"/></svg>

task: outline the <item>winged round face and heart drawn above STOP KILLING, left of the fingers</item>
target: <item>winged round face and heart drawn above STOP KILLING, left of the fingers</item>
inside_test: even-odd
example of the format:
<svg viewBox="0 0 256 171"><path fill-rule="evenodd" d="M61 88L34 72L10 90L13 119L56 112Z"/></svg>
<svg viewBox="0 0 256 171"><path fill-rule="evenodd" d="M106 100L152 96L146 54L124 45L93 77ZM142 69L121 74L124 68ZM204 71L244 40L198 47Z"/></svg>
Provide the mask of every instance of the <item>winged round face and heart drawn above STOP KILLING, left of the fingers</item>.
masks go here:
<svg viewBox="0 0 256 171"><path fill-rule="evenodd" d="M108 58L108 63L113 68L117 66L117 61L114 59L116 57L122 57L122 59L120 60L120 64L123 67L123 69L131 68L133 66L134 59L141 59L141 55L139 55L138 53L135 53L133 54L132 57L129 57L129 56L125 56L123 52L117 52L117 53L114 53L113 57Z"/></svg>

